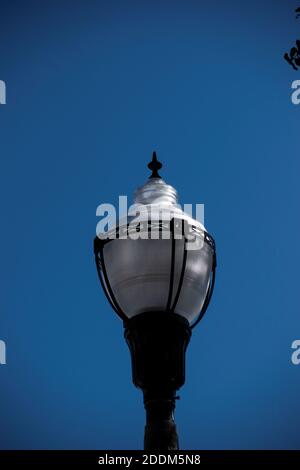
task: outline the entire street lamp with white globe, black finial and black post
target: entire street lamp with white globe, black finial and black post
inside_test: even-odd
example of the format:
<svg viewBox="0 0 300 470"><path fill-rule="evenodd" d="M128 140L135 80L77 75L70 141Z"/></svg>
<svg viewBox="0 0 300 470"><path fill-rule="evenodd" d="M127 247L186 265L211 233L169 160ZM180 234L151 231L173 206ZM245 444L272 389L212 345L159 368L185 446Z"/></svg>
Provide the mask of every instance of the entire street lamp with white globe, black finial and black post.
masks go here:
<svg viewBox="0 0 300 470"><path fill-rule="evenodd" d="M143 392L144 448L163 451L179 448L176 392L185 382L192 329L213 293L216 250L160 177L155 152L148 167L152 174L135 193L138 216L120 220L114 237L97 234L94 252L104 293L123 320L133 383Z"/></svg>

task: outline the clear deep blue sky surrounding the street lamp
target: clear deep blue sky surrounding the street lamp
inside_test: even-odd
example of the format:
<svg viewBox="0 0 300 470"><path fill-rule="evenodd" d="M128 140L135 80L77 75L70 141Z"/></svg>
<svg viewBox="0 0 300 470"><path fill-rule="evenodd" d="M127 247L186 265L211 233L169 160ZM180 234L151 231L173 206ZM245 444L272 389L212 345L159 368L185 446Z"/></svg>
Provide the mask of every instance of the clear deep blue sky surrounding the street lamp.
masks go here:
<svg viewBox="0 0 300 470"><path fill-rule="evenodd" d="M176 419L184 449L299 447L294 1L2 1L1 448L142 448L96 207L156 150L218 249Z"/></svg>

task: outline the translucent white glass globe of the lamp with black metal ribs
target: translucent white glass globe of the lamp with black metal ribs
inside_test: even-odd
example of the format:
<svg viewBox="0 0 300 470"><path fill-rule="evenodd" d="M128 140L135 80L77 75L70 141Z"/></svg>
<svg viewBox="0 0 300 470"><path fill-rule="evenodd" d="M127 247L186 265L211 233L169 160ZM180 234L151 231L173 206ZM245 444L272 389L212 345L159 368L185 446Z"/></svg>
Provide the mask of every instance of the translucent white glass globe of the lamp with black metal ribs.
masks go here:
<svg viewBox="0 0 300 470"><path fill-rule="evenodd" d="M135 193L138 215L119 221L117 238L99 234L95 239L100 281L125 321L146 312L171 312L193 326L212 294L215 243L198 220L181 210L176 190L153 173Z"/></svg>

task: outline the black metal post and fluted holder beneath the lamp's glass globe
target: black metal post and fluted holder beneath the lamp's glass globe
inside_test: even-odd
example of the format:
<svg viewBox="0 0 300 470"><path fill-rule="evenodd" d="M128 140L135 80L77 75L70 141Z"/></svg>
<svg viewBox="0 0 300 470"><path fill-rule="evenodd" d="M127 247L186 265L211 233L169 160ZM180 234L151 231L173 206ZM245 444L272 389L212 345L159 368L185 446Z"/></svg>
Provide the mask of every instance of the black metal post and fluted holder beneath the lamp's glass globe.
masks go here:
<svg viewBox="0 0 300 470"><path fill-rule="evenodd" d="M176 390L185 382L185 352L191 337L188 321L173 312L146 312L124 324L132 380L143 390L146 409L145 450L176 450Z"/></svg>

